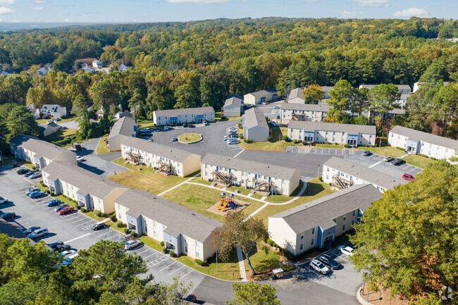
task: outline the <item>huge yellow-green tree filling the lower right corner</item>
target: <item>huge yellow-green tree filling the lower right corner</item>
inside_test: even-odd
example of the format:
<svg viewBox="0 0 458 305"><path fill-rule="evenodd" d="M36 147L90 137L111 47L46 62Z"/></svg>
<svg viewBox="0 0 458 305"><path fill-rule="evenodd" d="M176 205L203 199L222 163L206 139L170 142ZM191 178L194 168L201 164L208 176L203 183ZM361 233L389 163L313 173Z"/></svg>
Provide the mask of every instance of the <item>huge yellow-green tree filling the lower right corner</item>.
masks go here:
<svg viewBox="0 0 458 305"><path fill-rule="evenodd" d="M458 168L437 161L383 193L355 225L352 263L371 287L410 299L458 289Z"/></svg>

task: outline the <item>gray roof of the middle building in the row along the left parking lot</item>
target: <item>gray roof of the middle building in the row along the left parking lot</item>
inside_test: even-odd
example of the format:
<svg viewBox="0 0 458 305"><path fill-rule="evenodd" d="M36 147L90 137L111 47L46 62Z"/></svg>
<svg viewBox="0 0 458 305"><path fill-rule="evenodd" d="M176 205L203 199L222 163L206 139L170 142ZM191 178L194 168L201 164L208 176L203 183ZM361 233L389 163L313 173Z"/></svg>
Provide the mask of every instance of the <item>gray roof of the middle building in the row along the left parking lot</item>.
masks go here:
<svg viewBox="0 0 458 305"><path fill-rule="evenodd" d="M45 173L49 173L50 177L54 180L59 179L78 187L78 189L80 189L78 194L82 195L92 194L95 197L104 199L117 187L123 189L127 188L116 182L102 178L100 175L89 172L89 170L66 162L54 161L49 163L42 170Z"/></svg>

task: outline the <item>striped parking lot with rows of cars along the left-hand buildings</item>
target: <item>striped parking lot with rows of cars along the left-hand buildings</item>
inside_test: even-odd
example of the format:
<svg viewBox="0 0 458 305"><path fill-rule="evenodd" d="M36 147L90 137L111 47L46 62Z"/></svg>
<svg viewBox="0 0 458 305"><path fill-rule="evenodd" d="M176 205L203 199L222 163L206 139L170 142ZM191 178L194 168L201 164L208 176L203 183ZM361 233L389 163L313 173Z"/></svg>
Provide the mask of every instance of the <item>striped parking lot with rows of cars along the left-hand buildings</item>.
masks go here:
<svg viewBox="0 0 458 305"><path fill-rule="evenodd" d="M37 225L49 230L49 235L37 239L43 239L47 244L51 242L64 242L70 244L72 249L87 249L101 239L116 241L122 233L112 228L106 227L94 231L92 225L97 223L96 220L89 218L80 211L74 211L67 215L59 216L53 207L46 205L51 197L40 199L31 199L25 195L30 187L33 187L39 179L33 182L16 174L18 168L4 166L0 168L0 196L8 198L8 204L1 206L1 213L15 212L16 218L10 220L19 225L18 230L29 228ZM189 268L175 259L171 259L162 253L151 249L145 245L132 249L130 253L142 256L149 268L147 275L154 275L156 281L171 282L173 277L180 276L185 284L192 282L194 287L205 277L201 273ZM144 275L146 277L146 275Z"/></svg>

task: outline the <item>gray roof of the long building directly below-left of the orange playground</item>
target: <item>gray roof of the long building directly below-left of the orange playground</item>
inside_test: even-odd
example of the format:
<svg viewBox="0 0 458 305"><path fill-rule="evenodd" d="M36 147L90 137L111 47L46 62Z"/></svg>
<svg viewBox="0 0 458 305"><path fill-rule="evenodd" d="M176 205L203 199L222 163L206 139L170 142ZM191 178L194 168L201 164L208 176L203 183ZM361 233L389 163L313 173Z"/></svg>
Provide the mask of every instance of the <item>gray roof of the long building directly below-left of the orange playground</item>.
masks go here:
<svg viewBox="0 0 458 305"><path fill-rule="evenodd" d="M127 213L132 217L142 215L166 225L165 232L174 237L182 233L204 242L213 230L223 226L218 220L140 189L128 189L115 202L129 208Z"/></svg>

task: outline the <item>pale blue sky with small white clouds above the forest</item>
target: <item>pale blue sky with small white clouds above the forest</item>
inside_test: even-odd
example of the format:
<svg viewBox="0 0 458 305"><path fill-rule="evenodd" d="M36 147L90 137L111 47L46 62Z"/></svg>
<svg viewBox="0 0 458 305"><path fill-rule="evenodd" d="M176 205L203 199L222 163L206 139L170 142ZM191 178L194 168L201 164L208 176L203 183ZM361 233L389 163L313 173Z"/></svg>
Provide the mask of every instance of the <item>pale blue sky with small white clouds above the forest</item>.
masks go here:
<svg viewBox="0 0 458 305"><path fill-rule="evenodd" d="M0 0L4 23L135 23L213 18L457 18L457 0Z"/></svg>

